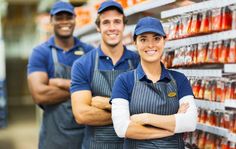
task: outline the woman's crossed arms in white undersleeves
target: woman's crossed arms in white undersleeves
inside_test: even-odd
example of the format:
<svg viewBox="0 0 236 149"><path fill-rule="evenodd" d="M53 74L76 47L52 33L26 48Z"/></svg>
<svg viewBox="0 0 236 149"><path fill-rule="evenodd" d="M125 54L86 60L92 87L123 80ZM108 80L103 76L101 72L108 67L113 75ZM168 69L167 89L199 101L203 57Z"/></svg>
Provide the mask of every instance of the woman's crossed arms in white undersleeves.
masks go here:
<svg viewBox="0 0 236 149"><path fill-rule="evenodd" d="M197 109L192 103L180 102L178 113L173 115L141 113L130 117L129 108L124 108L129 107L129 103L125 99L123 99L123 103L121 101L122 99L112 100L112 119L119 137L156 139L195 130ZM182 124L183 121L186 124Z"/></svg>

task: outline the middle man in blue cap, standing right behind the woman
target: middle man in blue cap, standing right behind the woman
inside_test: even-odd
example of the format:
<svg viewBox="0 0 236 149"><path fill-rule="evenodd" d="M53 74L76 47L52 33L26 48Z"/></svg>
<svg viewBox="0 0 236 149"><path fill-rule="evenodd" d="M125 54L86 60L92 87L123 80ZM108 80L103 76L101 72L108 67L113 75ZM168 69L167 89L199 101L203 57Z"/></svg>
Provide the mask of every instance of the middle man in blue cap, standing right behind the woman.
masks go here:
<svg viewBox="0 0 236 149"><path fill-rule="evenodd" d="M72 109L76 121L85 124L83 149L122 149L115 134L109 99L115 78L136 68L139 57L122 44L123 8L105 1L98 9L97 30L101 45L77 60L72 67Z"/></svg>

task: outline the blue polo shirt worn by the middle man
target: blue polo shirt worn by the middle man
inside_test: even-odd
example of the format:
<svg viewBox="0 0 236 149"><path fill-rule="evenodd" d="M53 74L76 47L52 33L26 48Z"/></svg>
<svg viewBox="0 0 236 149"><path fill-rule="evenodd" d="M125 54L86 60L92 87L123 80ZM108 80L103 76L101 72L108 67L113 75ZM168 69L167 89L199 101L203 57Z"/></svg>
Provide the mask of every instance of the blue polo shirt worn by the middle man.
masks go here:
<svg viewBox="0 0 236 149"><path fill-rule="evenodd" d="M124 47L124 53L120 60L113 65L112 59L106 56L100 47L94 49L76 60L72 66L71 71L71 93L80 90L91 90L91 82L94 72L95 57L98 52L98 69L99 70L128 70L129 62L131 60L134 68L139 63L139 56L137 53L127 50Z"/></svg>

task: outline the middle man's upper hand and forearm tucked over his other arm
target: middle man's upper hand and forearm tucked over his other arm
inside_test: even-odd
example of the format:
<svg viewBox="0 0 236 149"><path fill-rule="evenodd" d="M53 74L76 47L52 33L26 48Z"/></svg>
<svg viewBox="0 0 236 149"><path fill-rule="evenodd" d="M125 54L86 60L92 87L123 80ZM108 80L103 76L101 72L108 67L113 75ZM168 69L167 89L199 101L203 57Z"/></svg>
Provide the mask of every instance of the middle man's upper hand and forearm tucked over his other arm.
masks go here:
<svg viewBox="0 0 236 149"><path fill-rule="evenodd" d="M111 105L109 103L110 98L102 97L102 96L95 96L92 98L91 105L98 109L102 110L111 110Z"/></svg>

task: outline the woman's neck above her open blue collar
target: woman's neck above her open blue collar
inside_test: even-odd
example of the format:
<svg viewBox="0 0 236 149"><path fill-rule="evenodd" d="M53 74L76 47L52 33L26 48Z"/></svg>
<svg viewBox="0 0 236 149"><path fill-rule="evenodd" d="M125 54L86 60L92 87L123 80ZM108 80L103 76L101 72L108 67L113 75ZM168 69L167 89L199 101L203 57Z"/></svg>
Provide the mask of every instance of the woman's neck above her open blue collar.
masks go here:
<svg viewBox="0 0 236 149"><path fill-rule="evenodd" d="M160 80L161 77L161 63L160 61L155 63L149 63L141 60L143 71L147 75L147 78L152 80L153 83Z"/></svg>

